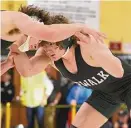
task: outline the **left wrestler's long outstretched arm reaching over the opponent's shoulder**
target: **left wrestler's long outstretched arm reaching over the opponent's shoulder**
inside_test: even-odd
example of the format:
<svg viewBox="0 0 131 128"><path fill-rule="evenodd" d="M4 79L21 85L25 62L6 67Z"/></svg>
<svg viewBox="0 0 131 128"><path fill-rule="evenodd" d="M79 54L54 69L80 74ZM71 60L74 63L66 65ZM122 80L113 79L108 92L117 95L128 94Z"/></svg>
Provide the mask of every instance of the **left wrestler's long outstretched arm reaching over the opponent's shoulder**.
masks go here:
<svg viewBox="0 0 131 128"><path fill-rule="evenodd" d="M86 34L91 34L98 39L103 36L103 34L88 28L87 25L84 24L43 25L43 23L34 21L28 15L21 12L4 11L2 14L2 17L6 15L8 16L9 20L7 22L9 22L9 24L12 23L13 28L18 28L22 33L35 37L39 40L57 42L80 31Z"/></svg>

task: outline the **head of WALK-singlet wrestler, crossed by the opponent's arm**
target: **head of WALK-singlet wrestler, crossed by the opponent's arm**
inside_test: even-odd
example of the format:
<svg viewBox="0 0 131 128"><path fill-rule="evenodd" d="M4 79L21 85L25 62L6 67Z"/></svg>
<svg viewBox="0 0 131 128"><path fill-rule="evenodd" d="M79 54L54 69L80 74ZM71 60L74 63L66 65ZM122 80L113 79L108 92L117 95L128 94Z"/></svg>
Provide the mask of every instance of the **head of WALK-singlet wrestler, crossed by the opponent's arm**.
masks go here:
<svg viewBox="0 0 131 128"><path fill-rule="evenodd" d="M51 24L68 24L69 20L63 15L55 15L51 17ZM58 30L59 31L59 30ZM44 48L44 51L51 60L56 61L65 56L69 49L75 44L75 37L70 37L68 39L51 43L46 41L41 41L40 46Z"/></svg>

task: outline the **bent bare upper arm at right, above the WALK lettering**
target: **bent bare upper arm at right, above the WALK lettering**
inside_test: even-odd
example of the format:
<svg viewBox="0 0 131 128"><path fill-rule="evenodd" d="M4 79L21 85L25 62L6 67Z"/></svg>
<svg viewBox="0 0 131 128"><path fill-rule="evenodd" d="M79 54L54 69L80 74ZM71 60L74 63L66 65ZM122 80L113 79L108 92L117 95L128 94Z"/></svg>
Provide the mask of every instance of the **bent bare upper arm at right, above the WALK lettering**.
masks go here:
<svg viewBox="0 0 131 128"><path fill-rule="evenodd" d="M87 39L89 41L89 39ZM114 77L123 77L124 70L121 61L115 57L108 47L103 43L97 43L91 36L89 43L81 45L81 50L84 53L90 54L98 66Z"/></svg>

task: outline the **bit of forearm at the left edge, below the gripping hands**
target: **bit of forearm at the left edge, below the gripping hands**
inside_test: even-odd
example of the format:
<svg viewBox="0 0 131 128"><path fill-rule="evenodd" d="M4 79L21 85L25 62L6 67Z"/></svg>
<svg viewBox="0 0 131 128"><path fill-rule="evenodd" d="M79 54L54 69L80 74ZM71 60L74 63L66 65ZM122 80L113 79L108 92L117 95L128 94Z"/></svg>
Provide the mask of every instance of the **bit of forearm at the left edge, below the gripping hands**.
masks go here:
<svg viewBox="0 0 131 128"><path fill-rule="evenodd" d="M7 72L9 69L13 68L8 60L1 63L1 75L3 75L5 72Z"/></svg>

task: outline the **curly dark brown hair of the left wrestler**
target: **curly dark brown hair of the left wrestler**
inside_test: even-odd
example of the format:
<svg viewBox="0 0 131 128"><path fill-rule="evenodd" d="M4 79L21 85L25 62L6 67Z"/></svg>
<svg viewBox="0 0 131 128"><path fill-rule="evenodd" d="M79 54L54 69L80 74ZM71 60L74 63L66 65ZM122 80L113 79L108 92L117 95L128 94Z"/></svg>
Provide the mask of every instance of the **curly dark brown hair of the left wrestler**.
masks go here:
<svg viewBox="0 0 131 128"><path fill-rule="evenodd" d="M50 13L44 9L36 7L34 5L29 6L21 6L19 11L25 13L30 17L36 17L39 22L43 22L44 24L51 24L51 16Z"/></svg>

